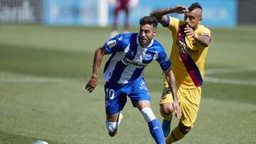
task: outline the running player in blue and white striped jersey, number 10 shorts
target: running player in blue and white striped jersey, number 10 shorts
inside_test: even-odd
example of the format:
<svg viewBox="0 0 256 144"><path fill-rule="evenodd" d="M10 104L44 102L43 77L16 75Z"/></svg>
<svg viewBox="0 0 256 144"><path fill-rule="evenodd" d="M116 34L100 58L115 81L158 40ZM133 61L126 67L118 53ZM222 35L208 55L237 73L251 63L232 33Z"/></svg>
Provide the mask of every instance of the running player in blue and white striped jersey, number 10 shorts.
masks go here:
<svg viewBox="0 0 256 144"><path fill-rule="evenodd" d="M85 89L89 92L95 89L102 57L111 54L104 68L106 126L110 136L117 133L122 119L120 111L124 108L127 96L129 96L133 106L137 107L144 116L156 143L166 143L159 121L151 111L151 98L143 77L144 68L153 60L159 62L161 69L166 74L174 98L174 109L177 117L181 118L171 61L161 44L153 38L156 35L157 23L154 16L145 16L139 21L139 33L116 35L95 51L92 77Z"/></svg>

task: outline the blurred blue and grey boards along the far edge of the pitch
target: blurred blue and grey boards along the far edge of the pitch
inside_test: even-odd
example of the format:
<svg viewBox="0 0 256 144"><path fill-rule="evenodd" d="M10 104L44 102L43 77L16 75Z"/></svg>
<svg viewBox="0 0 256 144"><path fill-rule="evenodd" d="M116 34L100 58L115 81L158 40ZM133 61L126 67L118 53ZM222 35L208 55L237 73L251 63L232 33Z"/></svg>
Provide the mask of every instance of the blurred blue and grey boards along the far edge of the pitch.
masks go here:
<svg viewBox="0 0 256 144"><path fill-rule="evenodd" d="M203 6L203 25L235 27L256 23L254 0L197 0ZM138 25L139 18L150 11L176 5L190 6L191 0L131 0L130 23ZM111 26L112 0L0 0L1 23L39 23L46 25ZM172 15L183 18L182 15ZM120 22L124 19L122 13Z"/></svg>

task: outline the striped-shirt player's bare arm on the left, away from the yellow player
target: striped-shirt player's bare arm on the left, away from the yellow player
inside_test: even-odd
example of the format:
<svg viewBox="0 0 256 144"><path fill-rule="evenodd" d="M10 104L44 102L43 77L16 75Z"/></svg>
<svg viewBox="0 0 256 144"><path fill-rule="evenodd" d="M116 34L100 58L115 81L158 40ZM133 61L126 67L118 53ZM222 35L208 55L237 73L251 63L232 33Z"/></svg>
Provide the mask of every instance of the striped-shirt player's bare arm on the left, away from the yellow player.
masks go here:
<svg viewBox="0 0 256 144"><path fill-rule="evenodd" d="M100 65L102 63L103 56L107 54L107 51L104 48L104 45L100 46L95 50L95 56L92 65L92 77L87 82L85 89L87 91L92 92L93 89L97 86L97 78L100 71Z"/></svg>

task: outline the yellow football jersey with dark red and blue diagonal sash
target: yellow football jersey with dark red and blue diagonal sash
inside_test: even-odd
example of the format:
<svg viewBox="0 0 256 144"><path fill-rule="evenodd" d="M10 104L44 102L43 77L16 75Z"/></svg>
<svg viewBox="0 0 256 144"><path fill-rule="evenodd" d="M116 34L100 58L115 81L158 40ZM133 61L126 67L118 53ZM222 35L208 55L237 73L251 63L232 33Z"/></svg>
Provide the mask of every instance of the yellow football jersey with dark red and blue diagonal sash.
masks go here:
<svg viewBox="0 0 256 144"><path fill-rule="evenodd" d="M188 38L184 33L183 21L177 18L169 17L167 28L171 30L174 40L169 58L177 86L187 89L201 86L208 47L194 38ZM202 25L198 25L195 33L210 37L210 30Z"/></svg>

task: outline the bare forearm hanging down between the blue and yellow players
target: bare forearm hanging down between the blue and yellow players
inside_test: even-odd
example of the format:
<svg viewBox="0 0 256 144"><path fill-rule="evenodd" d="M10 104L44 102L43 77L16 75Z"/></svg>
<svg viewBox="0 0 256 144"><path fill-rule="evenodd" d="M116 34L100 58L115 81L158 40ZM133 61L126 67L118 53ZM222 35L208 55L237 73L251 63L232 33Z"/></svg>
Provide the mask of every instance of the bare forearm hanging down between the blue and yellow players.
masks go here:
<svg viewBox="0 0 256 144"><path fill-rule="evenodd" d="M174 77L174 72L171 70L171 67L169 70L165 70L164 74L166 74L166 79L169 84L169 87L171 89L171 94L173 96L174 102L174 112L176 113L176 116L178 119L181 119L181 108L178 104L178 96L177 96L177 88L176 88L176 79Z"/></svg>

